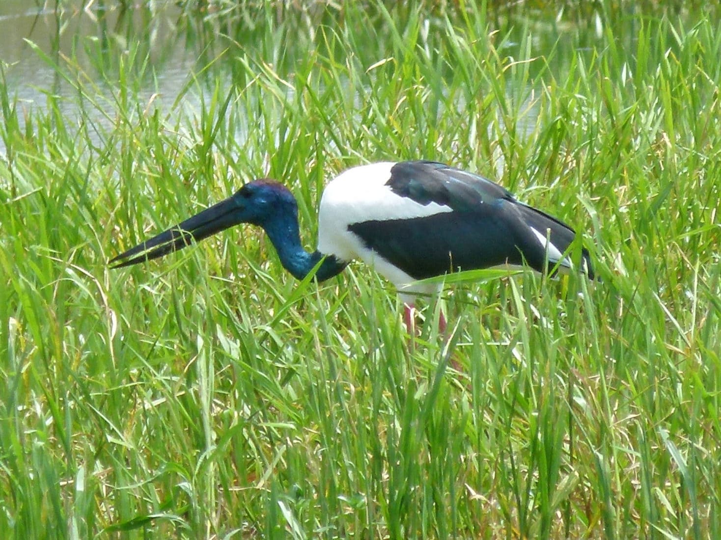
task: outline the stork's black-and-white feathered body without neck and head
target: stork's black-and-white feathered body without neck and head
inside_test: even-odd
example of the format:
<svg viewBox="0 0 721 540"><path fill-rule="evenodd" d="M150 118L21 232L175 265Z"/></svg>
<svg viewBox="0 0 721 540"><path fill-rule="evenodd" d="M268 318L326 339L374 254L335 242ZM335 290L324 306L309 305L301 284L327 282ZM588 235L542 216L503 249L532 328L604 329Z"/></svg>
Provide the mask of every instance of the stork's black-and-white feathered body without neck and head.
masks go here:
<svg viewBox="0 0 721 540"><path fill-rule="evenodd" d="M342 172L323 192L318 250L361 259L411 294L458 270L522 265L571 267L565 223L519 203L477 174L432 161L376 163ZM585 254L588 258L588 254Z"/></svg>

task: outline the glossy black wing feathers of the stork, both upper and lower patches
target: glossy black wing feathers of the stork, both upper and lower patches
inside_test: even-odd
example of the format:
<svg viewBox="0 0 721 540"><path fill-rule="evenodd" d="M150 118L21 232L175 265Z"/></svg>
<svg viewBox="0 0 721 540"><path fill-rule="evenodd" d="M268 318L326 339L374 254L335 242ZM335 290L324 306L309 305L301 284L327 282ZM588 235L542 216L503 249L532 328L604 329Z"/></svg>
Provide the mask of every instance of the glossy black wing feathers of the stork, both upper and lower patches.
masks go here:
<svg viewBox="0 0 721 540"><path fill-rule="evenodd" d="M396 164L387 185L421 205L451 208L433 216L348 226L366 247L415 279L502 264L525 263L544 272L558 257L554 260L539 234L560 253L575 238L565 223L519 203L500 185L435 161ZM585 250L583 257L592 276Z"/></svg>

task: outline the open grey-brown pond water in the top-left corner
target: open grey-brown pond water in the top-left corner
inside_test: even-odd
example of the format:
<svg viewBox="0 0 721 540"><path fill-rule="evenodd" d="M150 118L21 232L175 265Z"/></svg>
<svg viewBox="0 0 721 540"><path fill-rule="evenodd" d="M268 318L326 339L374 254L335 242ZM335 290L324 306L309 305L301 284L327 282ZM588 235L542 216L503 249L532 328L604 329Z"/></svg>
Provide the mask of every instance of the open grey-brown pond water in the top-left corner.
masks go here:
<svg viewBox="0 0 721 540"><path fill-rule="evenodd" d="M89 92L88 97L100 103L112 102L118 87L114 80L118 62L127 61L131 42L141 43L139 50L146 50L150 59L137 99L169 109L192 80L200 58L198 50L188 45L186 36L179 31L183 12L172 2L160 3L155 9L89 4L87 9L54 9L22 0L0 2L0 61L9 94L17 99L20 110L45 110L50 94L56 97L63 115L74 118L77 89L58 72L68 71L68 63L74 62L77 64L70 71L93 79L89 85L94 95ZM195 92L185 94L182 109L197 110L199 99ZM112 112L105 112L91 110L94 123L107 125ZM0 140L0 154L4 151L4 141Z"/></svg>

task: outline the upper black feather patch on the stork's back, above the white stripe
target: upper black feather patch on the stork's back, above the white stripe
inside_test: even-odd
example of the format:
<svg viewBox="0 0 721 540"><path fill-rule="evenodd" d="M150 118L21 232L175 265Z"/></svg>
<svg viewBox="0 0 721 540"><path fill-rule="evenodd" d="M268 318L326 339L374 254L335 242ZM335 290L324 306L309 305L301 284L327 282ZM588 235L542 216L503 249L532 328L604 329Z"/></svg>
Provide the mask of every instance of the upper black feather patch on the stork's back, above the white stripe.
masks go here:
<svg viewBox="0 0 721 540"><path fill-rule="evenodd" d="M422 205L437 203L455 211L472 211L482 204L515 201L495 182L437 161L401 161L390 172L386 185Z"/></svg>

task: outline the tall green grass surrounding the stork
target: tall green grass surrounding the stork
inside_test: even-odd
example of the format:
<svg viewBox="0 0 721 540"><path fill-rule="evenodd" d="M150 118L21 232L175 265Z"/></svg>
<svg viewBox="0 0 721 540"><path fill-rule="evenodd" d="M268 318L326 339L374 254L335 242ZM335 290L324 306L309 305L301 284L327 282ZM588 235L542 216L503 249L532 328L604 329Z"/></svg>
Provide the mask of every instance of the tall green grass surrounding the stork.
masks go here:
<svg viewBox="0 0 721 540"><path fill-rule="evenodd" d="M36 50L44 108L4 66L5 537L721 536L716 15L459 4L186 7L175 102L122 16ZM370 269L298 283L250 227L106 265L266 175L314 247L335 173L421 157L572 223L603 282L465 275L411 346Z"/></svg>

